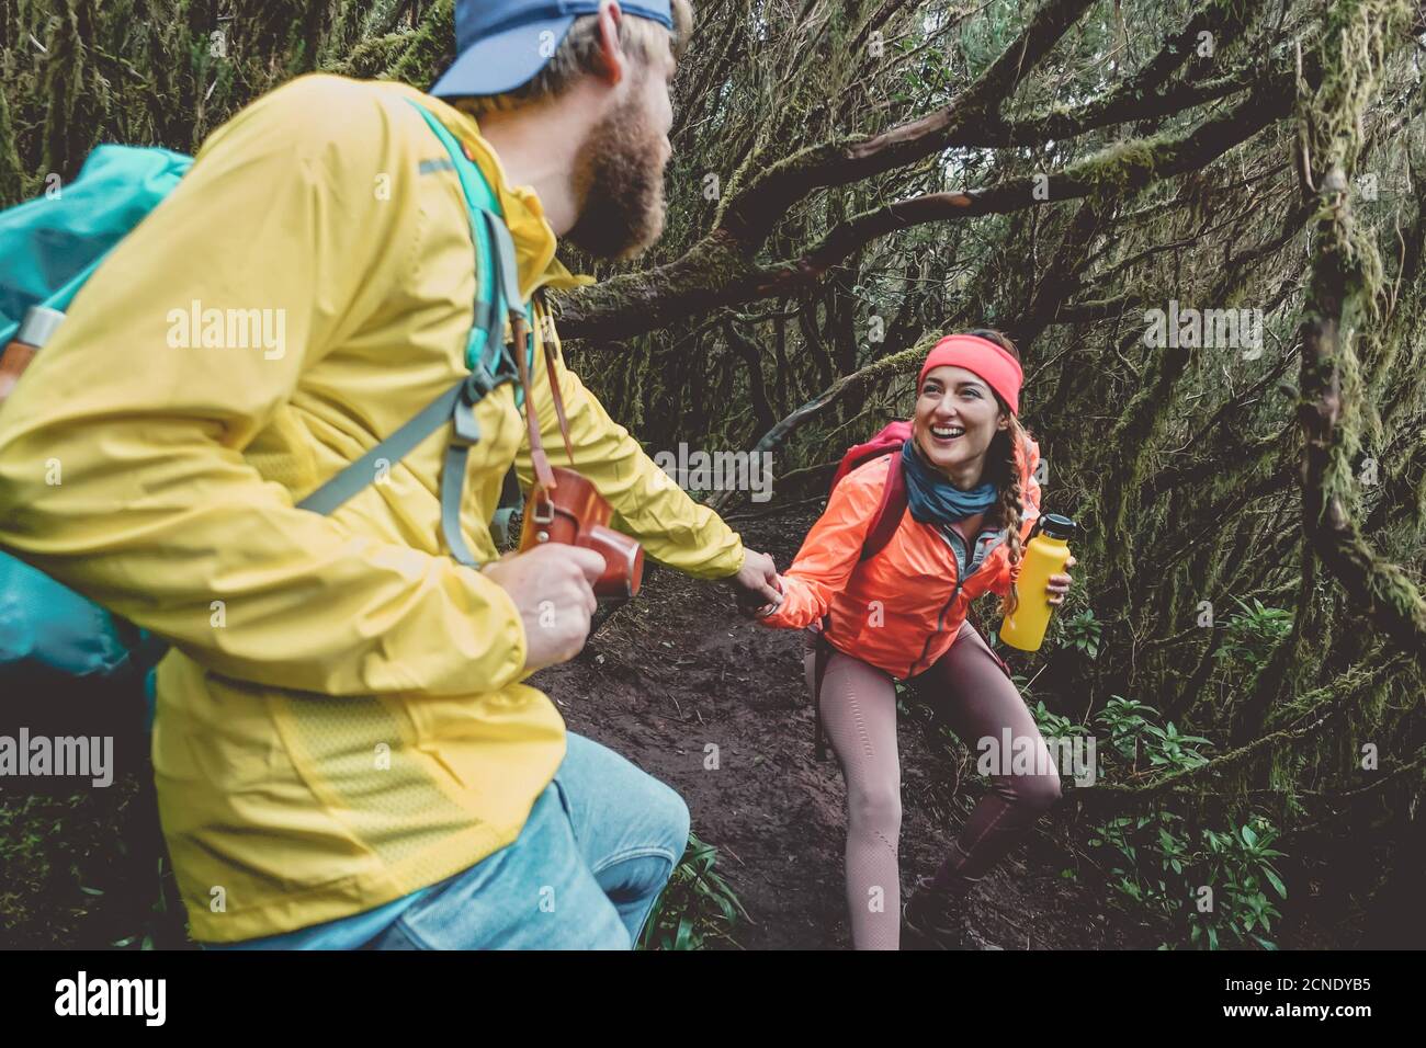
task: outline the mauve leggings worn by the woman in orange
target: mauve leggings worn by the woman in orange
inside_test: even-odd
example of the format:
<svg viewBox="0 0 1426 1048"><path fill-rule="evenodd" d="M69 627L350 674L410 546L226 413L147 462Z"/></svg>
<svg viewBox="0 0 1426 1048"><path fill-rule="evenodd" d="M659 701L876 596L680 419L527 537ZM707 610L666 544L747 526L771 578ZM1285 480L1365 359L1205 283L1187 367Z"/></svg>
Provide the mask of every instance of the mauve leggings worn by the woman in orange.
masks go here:
<svg viewBox="0 0 1426 1048"><path fill-rule="evenodd" d="M807 630L807 687L816 680L816 633ZM984 639L967 622L950 650L911 679L917 699L935 709L980 757L977 740L1032 739L1032 767L1051 769L1035 719ZM821 683L821 723L847 780L847 910L857 950L897 950L901 940L901 766L896 740L896 687L891 676L833 649ZM1060 800L1060 777L995 774L991 791L971 811L935 873L953 893L975 887Z"/></svg>

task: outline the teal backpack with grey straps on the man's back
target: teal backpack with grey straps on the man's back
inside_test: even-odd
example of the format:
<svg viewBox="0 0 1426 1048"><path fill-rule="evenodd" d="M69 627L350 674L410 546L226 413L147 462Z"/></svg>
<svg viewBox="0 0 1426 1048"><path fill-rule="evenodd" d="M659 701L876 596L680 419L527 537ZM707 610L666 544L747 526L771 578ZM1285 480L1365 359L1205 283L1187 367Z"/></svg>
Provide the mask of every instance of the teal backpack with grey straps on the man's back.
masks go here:
<svg viewBox="0 0 1426 1048"><path fill-rule="evenodd" d="M445 125L424 106L411 104L449 157L428 161L422 173L449 164L461 180L471 220L478 260L475 324L466 342L471 371L298 506L331 513L375 481L378 459L399 462L451 423L451 443L441 469L441 529L451 556L473 565L475 558L461 536L459 508L468 452L481 438L475 405L502 382L515 382L516 404L523 401L515 362L505 351L503 328L511 312L523 311L530 318L530 307L518 301L515 250L489 183ZM29 332L53 331L58 325L63 311L110 250L173 192L191 165L191 157L170 150L100 145L60 197L40 197L0 211L0 346L16 335L30 345L43 342L43 337ZM533 354L533 339L526 344L526 354ZM519 483L511 471L492 522L501 545L508 542L519 498ZM143 692L151 727L153 667L167 647L161 637L0 552L0 693L51 694L58 687L66 693L78 690L84 699Z"/></svg>

